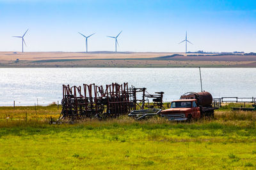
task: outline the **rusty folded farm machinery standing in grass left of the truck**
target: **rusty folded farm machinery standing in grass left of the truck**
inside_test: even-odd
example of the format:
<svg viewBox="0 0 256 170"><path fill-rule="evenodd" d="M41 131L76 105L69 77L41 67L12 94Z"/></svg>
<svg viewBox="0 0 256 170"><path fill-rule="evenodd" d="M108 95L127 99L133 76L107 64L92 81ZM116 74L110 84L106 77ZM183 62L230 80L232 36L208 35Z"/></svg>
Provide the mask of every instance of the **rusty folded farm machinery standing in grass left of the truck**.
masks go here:
<svg viewBox="0 0 256 170"><path fill-rule="evenodd" d="M156 114L163 108L163 92L148 94L146 88L128 87L128 83L111 83L103 87L93 84L83 86L63 85L62 110L59 120L83 118L115 118L141 113ZM141 95L141 96L140 96ZM149 99L152 103L149 103ZM147 102L148 101L148 102ZM148 111L144 108L148 108ZM145 116L144 116L145 117Z"/></svg>

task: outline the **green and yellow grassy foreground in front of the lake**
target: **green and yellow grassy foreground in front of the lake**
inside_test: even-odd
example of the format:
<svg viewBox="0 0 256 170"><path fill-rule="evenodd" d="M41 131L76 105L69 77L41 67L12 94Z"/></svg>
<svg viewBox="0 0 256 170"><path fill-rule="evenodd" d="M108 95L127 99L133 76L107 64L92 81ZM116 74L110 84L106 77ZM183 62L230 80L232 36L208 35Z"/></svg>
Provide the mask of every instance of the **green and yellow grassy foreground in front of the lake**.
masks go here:
<svg viewBox="0 0 256 170"><path fill-rule="evenodd" d="M120 117L49 125L59 113L1 107L0 169L256 168L254 112L224 108L192 123Z"/></svg>

